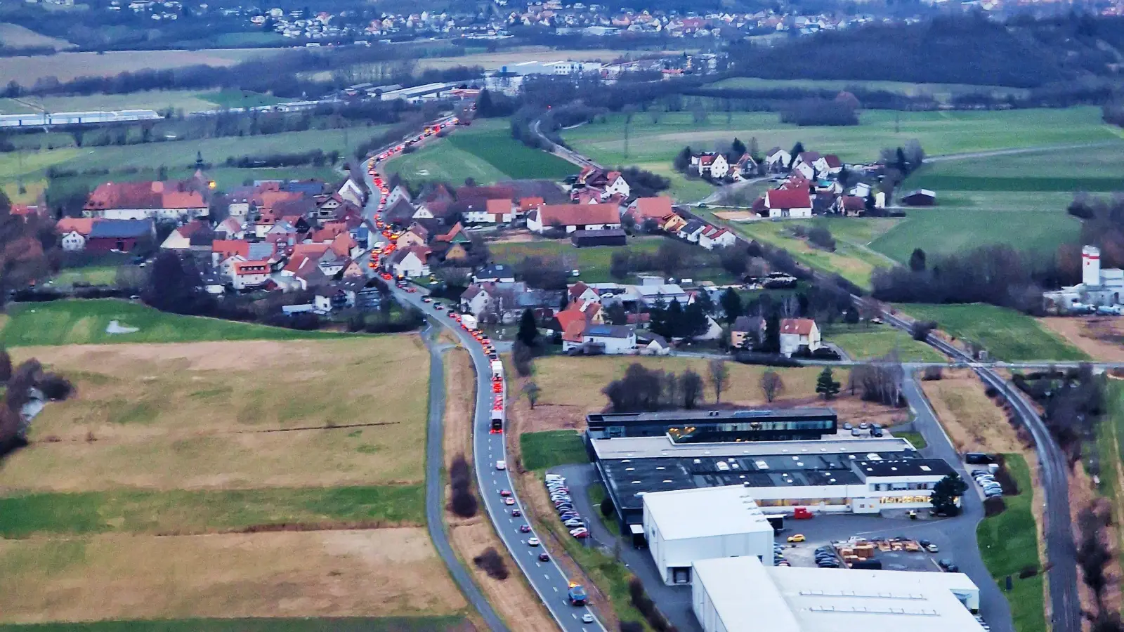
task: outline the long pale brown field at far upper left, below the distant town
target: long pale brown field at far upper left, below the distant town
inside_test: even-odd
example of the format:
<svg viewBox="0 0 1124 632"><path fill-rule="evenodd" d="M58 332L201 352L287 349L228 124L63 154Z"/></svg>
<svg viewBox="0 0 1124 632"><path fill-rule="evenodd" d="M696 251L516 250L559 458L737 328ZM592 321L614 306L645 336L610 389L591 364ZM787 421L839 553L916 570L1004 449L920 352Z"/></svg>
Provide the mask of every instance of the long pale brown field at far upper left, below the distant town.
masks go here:
<svg viewBox="0 0 1124 632"><path fill-rule="evenodd" d="M0 57L0 83L16 81L21 85L31 85L44 76L70 81L75 76L111 76L142 69L164 70L198 64L230 66L254 57L268 57L277 51L279 49L117 51Z"/></svg>

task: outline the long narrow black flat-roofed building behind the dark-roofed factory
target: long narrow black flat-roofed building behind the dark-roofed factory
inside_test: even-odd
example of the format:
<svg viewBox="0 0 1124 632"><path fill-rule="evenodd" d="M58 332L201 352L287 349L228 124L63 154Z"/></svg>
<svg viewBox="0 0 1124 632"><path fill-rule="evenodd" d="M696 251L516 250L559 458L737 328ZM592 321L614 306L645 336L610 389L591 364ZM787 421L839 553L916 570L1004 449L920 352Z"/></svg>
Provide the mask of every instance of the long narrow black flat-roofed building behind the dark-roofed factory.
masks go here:
<svg viewBox="0 0 1124 632"><path fill-rule="evenodd" d="M835 434L837 422L831 408L597 413L586 416L586 436L670 436L676 443L794 441Z"/></svg>

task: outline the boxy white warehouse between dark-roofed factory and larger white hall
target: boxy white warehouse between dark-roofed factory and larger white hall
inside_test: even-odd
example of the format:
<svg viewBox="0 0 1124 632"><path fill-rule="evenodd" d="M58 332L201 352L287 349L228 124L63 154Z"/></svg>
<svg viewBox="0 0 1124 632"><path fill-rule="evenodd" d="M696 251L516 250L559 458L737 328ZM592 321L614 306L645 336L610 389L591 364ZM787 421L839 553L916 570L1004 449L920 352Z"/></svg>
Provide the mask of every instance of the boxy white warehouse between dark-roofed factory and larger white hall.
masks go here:
<svg viewBox="0 0 1124 632"><path fill-rule="evenodd" d="M644 535L663 583L690 584L691 565L710 558L773 562L773 527L740 485L644 494Z"/></svg>

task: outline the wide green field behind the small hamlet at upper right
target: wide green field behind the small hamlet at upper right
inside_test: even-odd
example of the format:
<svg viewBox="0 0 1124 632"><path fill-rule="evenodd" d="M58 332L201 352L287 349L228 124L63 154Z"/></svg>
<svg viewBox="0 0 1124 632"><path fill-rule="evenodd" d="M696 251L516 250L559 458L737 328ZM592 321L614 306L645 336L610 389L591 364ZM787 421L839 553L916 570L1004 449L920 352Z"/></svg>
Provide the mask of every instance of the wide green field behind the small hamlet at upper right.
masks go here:
<svg viewBox="0 0 1124 632"><path fill-rule="evenodd" d="M897 123L896 123L897 119ZM895 133L897 126L898 132ZM860 124L847 127L798 127L778 123L774 112L711 112L703 124L692 112L662 112L659 123L634 116L629 126L629 153L624 155L624 115L609 115L606 123L587 124L562 133L563 138L591 159L607 165L634 163L671 164L685 145L710 150L716 142L735 136L758 139L762 152L773 145L788 148L797 141L812 151L839 154L849 162L878 157L882 147L916 138L930 156L982 152L1009 147L1072 145L1118 139L1091 107L1006 111L892 112L865 110Z"/></svg>

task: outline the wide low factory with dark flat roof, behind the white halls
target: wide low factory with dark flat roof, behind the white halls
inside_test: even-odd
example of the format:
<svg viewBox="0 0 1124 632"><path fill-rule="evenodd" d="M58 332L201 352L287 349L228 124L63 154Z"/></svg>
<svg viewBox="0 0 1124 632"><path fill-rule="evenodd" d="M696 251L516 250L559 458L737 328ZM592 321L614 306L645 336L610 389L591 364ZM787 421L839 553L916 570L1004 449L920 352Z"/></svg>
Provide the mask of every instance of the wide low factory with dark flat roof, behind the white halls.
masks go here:
<svg viewBox="0 0 1124 632"><path fill-rule="evenodd" d="M595 467L625 533L644 520L652 493L747 486L770 513L878 513L930 507L933 487L951 473L922 459L905 439L677 443L663 436L589 439Z"/></svg>

